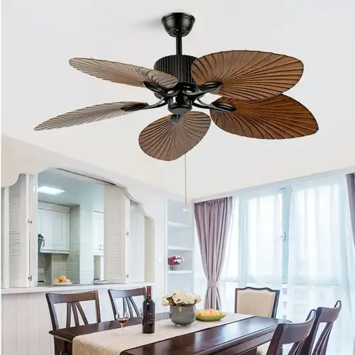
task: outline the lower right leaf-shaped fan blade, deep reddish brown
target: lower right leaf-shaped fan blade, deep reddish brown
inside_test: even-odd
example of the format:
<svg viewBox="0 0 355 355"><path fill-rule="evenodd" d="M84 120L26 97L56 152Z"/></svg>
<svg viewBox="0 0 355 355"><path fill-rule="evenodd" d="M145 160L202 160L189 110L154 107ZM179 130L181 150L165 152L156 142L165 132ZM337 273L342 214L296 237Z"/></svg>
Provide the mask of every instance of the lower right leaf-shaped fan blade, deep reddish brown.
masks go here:
<svg viewBox="0 0 355 355"><path fill-rule="evenodd" d="M234 112L211 110L211 118L220 129L239 136L284 139L310 136L318 131L313 115L300 102L286 95L258 101L239 101L222 97L236 107Z"/></svg>

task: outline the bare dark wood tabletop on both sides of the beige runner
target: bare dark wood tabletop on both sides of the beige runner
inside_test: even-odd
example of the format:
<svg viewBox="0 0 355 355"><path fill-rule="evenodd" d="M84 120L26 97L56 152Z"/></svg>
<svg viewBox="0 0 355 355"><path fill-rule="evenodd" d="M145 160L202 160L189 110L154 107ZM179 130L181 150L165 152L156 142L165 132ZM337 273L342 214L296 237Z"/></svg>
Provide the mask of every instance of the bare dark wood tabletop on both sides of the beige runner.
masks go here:
<svg viewBox="0 0 355 355"><path fill-rule="evenodd" d="M159 313L156 320L169 318L169 313ZM279 323L286 320L274 318L251 317L246 320L224 324L213 328L204 329L199 332L184 334L180 337L163 340L153 344L139 346L134 349L123 351L121 355L181 355L181 354L221 354L221 355L253 355L256 354L256 347L269 342L273 332ZM125 324L141 324L141 318L131 318ZM58 341L62 342L62 350L72 348L72 340L84 334L104 332L109 329L119 328L119 322L109 321L95 324L82 325L80 327L63 328L50 331Z"/></svg>

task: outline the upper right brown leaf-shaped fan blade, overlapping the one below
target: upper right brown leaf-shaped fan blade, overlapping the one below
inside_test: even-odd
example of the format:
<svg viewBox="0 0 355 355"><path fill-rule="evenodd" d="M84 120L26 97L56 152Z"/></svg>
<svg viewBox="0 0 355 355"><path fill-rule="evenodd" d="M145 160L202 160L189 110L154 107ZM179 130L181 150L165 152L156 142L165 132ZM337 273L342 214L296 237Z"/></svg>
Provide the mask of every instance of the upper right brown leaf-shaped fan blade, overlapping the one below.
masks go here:
<svg viewBox="0 0 355 355"><path fill-rule="evenodd" d="M204 55L191 67L197 84L221 82L217 94L240 100L275 97L300 80L303 64L296 58L253 50Z"/></svg>

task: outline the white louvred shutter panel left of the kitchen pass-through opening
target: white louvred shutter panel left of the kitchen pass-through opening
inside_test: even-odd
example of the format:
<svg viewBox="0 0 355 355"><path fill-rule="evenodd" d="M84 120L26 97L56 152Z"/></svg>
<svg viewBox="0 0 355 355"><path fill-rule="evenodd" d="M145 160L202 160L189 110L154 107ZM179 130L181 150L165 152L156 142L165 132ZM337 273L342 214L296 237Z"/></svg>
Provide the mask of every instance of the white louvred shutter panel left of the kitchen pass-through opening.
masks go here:
<svg viewBox="0 0 355 355"><path fill-rule="evenodd" d="M1 189L1 288L37 285L37 175Z"/></svg>

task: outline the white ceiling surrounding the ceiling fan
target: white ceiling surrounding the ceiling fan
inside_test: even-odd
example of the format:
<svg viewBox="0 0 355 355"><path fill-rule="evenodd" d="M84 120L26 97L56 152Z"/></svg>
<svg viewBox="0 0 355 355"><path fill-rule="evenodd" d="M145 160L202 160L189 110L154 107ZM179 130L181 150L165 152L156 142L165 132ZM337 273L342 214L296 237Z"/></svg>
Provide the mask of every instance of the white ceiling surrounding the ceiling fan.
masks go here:
<svg viewBox="0 0 355 355"><path fill-rule="evenodd" d="M155 102L146 89L99 80L72 69L83 56L153 67L173 54L160 25L172 11L192 13L184 53L231 49L295 56L305 64L288 92L320 124L315 136L258 141L212 125L187 155L189 197L214 195L276 180L355 165L355 2L353 0L45 1L2 5L3 133L107 170L184 192L183 160L145 155L138 134L166 109L56 131L33 131L45 119L104 102Z"/></svg>

